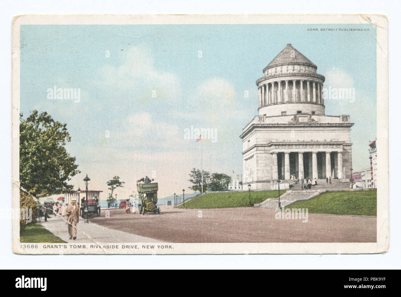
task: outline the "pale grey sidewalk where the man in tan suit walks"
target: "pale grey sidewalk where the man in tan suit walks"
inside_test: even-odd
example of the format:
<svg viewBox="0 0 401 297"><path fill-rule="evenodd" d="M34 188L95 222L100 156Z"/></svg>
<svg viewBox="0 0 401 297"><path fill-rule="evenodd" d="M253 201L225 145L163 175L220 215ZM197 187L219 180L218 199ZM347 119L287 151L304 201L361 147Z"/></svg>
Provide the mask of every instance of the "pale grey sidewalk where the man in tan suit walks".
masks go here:
<svg viewBox="0 0 401 297"><path fill-rule="evenodd" d="M63 217L63 219L67 219L67 217ZM89 221L89 223L85 223L85 220L82 218L79 219L79 223L77 225L77 239L72 240L69 239L68 227L63 219L61 219L59 216L54 217L52 215L51 219L47 219L47 222L43 221L42 219L39 224L67 243L93 243L94 241L96 243L163 242L153 238L108 229L95 223L91 223L91 221ZM79 230L85 232L86 235ZM89 239L87 235L89 235L92 240Z"/></svg>

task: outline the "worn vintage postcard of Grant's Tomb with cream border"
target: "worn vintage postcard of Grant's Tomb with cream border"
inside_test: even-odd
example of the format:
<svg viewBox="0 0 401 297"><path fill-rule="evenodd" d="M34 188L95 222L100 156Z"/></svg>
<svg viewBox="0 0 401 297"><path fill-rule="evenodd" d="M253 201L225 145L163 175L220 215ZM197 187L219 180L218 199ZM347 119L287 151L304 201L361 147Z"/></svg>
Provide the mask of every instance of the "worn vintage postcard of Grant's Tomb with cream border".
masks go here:
<svg viewBox="0 0 401 297"><path fill-rule="evenodd" d="M382 15L12 21L18 254L389 248Z"/></svg>

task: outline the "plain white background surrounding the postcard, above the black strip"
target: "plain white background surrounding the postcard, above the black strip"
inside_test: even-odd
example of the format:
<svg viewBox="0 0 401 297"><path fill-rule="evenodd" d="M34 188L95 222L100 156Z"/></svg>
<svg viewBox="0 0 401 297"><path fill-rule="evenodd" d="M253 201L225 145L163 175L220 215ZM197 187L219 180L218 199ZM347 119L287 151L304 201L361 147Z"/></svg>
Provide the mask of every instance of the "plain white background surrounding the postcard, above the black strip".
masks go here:
<svg viewBox="0 0 401 297"><path fill-rule="evenodd" d="M18 14L384 14L389 19L390 248L380 255L14 255L11 221L0 219L0 268L5 269L397 269L400 266L401 177L399 148L399 36L397 1L17 1L3 0L0 11L0 181L1 207L11 208L11 21ZM363 54L363 51L361 52ZM395 91L395 92L394 92ZM398 94L394 96L394 94ZM380 102L378 102L380 104ZM83 265L86 264L86 265Z"/></svg>

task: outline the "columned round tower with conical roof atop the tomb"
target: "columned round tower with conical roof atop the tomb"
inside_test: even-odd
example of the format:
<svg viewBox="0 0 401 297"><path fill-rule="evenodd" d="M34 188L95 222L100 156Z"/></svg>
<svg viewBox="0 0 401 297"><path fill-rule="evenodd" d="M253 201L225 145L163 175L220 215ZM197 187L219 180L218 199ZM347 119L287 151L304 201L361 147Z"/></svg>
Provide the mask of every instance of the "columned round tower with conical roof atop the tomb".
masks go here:
<svg viewBox="0 0 401 297"><path fill-rule="evenodd" d="M324 76L317 66L291 44L263 69L256 81L259 89L259 115L324 115Z"/></svg>

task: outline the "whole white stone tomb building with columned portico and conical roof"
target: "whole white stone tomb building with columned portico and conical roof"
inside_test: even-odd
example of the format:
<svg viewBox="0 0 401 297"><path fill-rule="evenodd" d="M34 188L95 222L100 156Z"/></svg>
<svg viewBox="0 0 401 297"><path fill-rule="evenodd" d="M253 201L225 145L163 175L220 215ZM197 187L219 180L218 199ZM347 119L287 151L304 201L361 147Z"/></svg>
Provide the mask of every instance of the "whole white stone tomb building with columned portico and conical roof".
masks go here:
<svg viewBox="0 0 401 297"><path fill-rule="evenodd" d="M291 44L256 81L259 114L243 129L243 182L275 189L292 176L350 181L351 127L348 115L324 112L324 76Z"/></svg>

